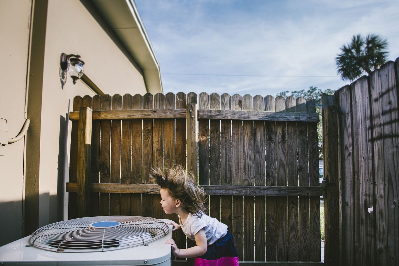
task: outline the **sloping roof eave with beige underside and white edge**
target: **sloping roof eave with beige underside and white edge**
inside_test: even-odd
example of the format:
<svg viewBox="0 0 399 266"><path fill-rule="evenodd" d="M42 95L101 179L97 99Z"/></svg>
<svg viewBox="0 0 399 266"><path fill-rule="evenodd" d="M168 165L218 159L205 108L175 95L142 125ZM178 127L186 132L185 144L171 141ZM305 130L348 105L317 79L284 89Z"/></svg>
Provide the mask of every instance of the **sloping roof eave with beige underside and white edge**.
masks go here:
<svg viewBox="0 0 399 266"><path fill-rule="evenodd" d="M158 59L133 0L92 0L143 70L147 91L163 92Z"/></svg>

